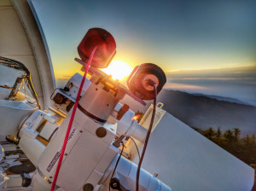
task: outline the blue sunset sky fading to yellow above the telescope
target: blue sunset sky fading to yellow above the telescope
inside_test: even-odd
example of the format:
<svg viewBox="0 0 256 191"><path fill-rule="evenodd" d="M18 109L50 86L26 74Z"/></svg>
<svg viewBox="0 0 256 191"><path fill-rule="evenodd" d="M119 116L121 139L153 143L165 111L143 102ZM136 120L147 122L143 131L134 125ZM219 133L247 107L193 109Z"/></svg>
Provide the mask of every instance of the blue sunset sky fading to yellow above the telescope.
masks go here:
<svg viewBox="0 0 256 191"><path fill-rule="evenodd" d="M113 35L117 44L115 61L131 67L155 63L166 72L166 86L173 88L179 84L175 86L177 90L200 91L191 85L201 87L208 83L211 87L220 80L216 77L206 80L205 76L200 80L194 77L180 81L172 77L178 73L188 78L189 72L183 71L197 75L196 71L204 73L221 68L217 71L222 73L223 81L237 67L253 68L255 72L256 1L32 0L32 3L44 29L57 79L79 72L80 66L73 59L79 56L77 46L91 27L104 28ZM230 68L229 74L225 68ZM248 71L242 70L242 79L237 76L236 79L248 78L247 75L252 75ZM218 72L212 75L218 76ZM250 80L245 81L250 84L251 92L246 94L252 101L256 97L255 84L252 86L255 78ZM190 85L190 89L183 84ZM236 91L240 91L243 85L236 84ZM224 96L224 91L202 93ZM233 97L248 101L236 94Z"/></svg>

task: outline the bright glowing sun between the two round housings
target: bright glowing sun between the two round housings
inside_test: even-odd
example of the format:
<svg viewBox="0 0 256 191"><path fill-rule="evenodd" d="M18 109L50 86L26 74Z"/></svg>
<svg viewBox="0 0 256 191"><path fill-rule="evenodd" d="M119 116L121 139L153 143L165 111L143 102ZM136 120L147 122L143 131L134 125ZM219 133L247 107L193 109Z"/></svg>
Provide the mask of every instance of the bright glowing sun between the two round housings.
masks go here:
<svg viewBox="0 0 256 191"><path fill-rule="evenodd" d="M130 75L132 68L125 61L112 61L110 65L102 69L103 72L106 72L108 75L112 75L113 79L123 79Z"/></svg>

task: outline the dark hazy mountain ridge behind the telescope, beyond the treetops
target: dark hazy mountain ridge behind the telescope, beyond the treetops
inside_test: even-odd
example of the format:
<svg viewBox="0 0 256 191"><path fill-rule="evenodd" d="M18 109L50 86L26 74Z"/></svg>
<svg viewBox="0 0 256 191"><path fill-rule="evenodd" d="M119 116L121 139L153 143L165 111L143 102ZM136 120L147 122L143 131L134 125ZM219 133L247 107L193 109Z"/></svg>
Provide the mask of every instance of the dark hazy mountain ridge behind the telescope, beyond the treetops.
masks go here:
<svg viewBox="0 0 256 191"><path fill-rule="evenodd" d="M163 109L191 127L206 130L209 127L222 131L239 128L241 136L256 135L256 107L235 102L230 98L218 100L214 96L193 95L178 90L161 90L157 101L164 103ZM147 110L152 101L142 107L125 96L121 101L133 111Z"/></svg>

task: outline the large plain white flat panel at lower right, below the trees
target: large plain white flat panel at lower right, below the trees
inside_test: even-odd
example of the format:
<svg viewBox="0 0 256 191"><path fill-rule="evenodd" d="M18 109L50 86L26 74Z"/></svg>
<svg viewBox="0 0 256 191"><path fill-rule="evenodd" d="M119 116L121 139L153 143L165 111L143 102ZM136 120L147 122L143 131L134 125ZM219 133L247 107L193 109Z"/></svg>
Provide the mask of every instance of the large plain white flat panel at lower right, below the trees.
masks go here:
<svg viewBox="0 0 256 191"><path fill-rule="evenodd" d="M178 191L250 191L253 187L253 168L169 113L150 136L142 166L159 173L161 181Z"/></svg>

